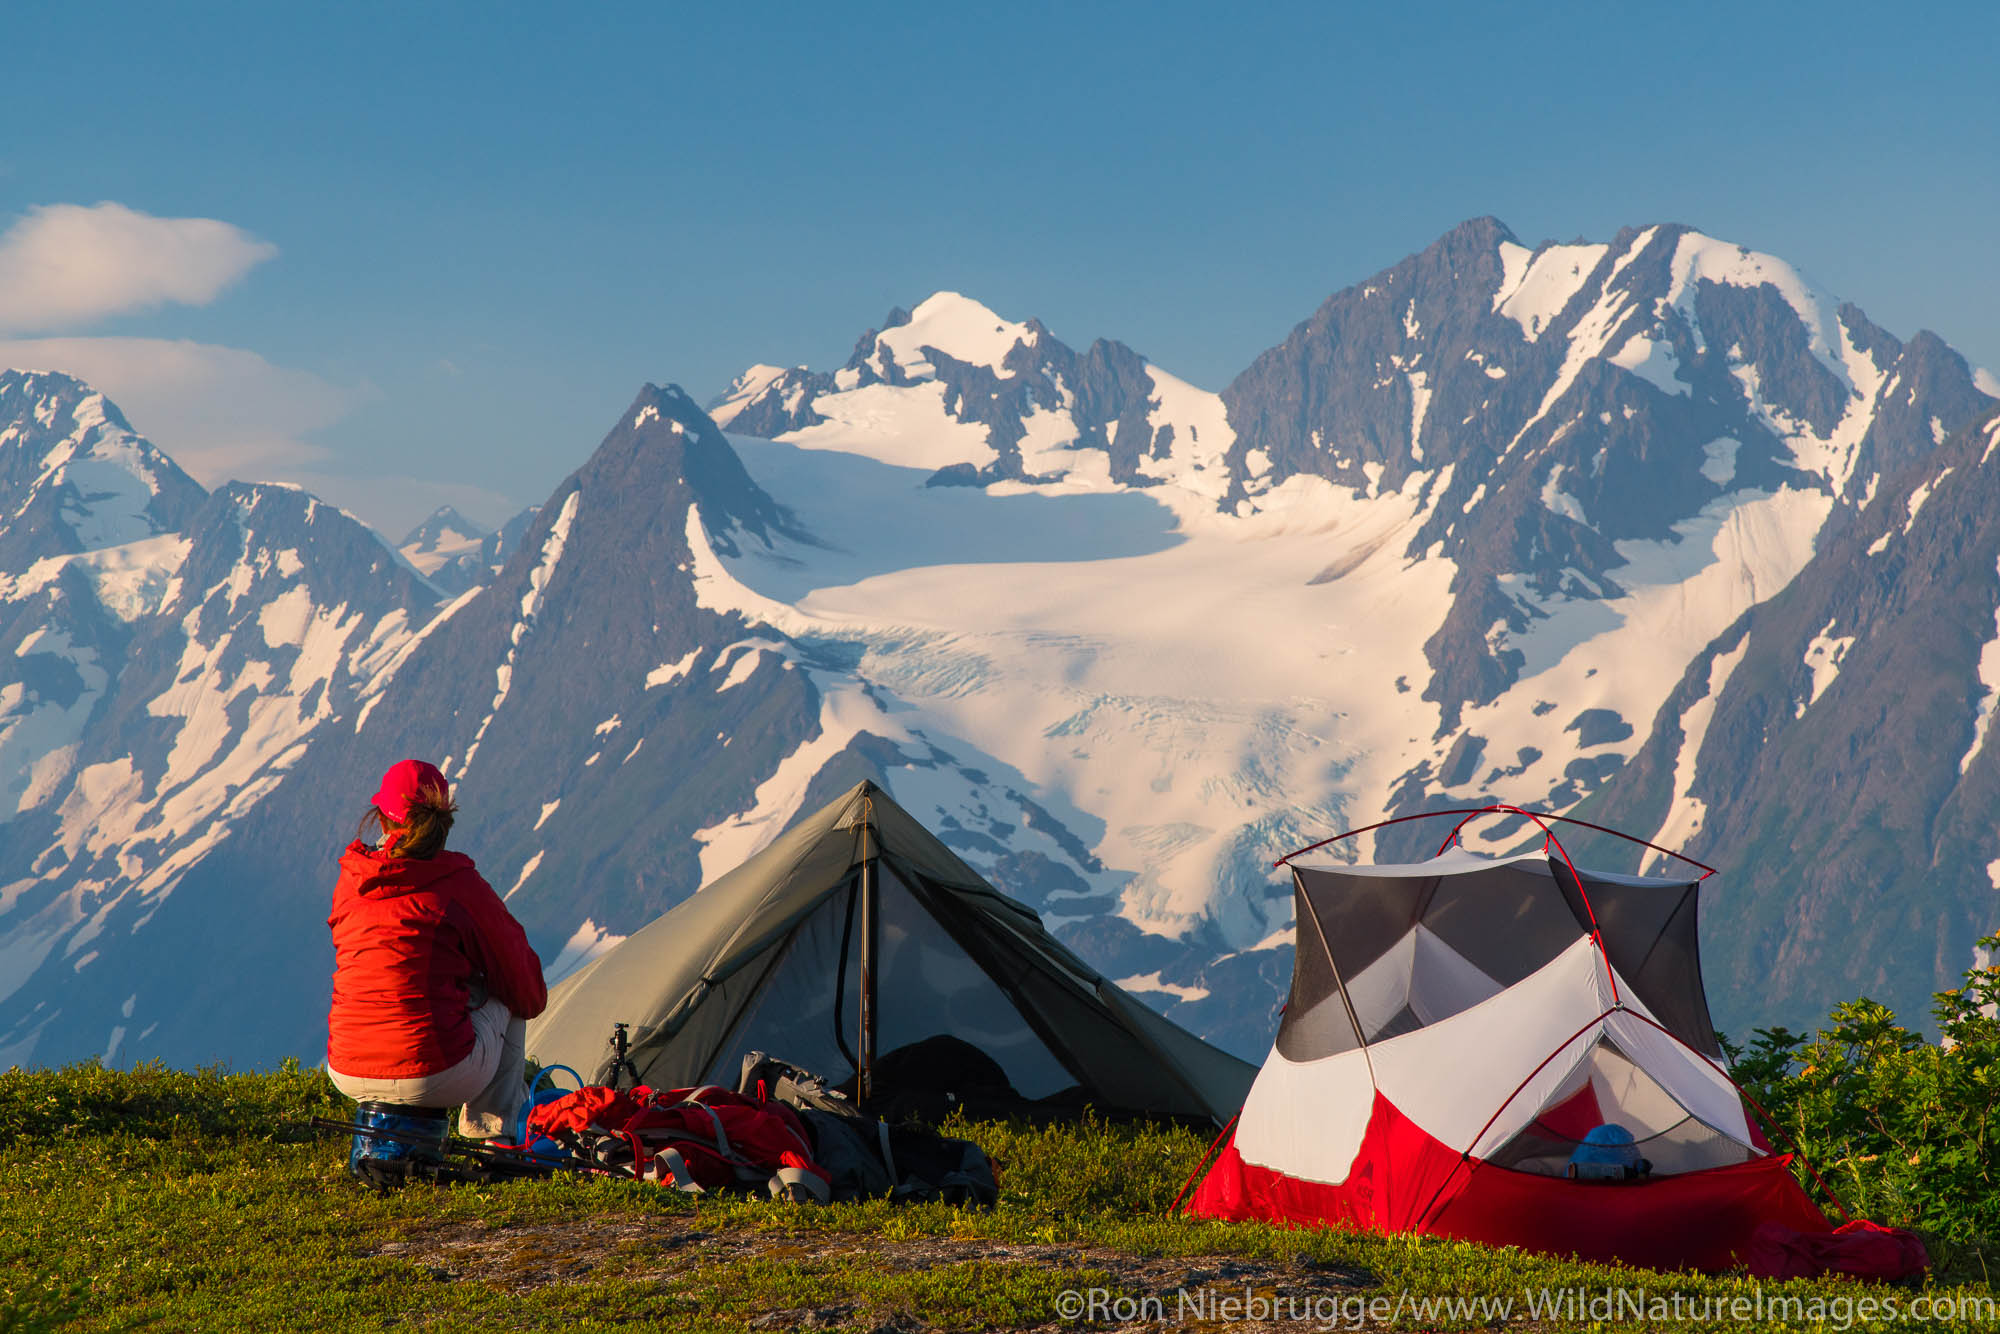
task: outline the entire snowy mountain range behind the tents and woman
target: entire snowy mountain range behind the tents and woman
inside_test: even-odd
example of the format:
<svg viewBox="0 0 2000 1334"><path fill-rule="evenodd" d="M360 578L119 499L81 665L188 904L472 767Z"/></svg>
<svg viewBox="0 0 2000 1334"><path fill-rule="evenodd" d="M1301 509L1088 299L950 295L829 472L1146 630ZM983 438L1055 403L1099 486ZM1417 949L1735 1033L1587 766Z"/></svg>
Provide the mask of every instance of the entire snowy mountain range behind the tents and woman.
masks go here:
<svg viewBox="0 0 2000 1334"><path fill-rule="evenodd" d="M102 400L16 380L0 1062L312 1054L330 858L402 754L558 970L870 776L1246 1054L1290 972L1272 858L1438 804L1720 864L1726 1026L1918 1014L1992 926L2000 404L1688 228L1468 222L1222 392L940 292L712 416L648 386L504 560L434 516L404 548L466 544L444 604L338 512L160 482ZM36 500L92 428L154 482ZM148 526L48 518L94 496Z"/></svg>

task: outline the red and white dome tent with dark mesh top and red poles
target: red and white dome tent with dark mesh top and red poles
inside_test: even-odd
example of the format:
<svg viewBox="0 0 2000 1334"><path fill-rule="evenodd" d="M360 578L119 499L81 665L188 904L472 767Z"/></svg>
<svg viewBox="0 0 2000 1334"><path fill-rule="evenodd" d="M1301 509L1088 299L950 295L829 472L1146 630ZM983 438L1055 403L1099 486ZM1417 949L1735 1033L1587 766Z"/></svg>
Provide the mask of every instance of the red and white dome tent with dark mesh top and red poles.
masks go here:
<svg viewBox="0 0 2000 1334"><path fill-rule="evenodd" d="M1458 832L1486 814L1532 820L1544 846L1468 852ZM1294 860L1434 816L1462 818L1428 862ZM1700 874L1578 870L1550 820L1404 816L1278 862L1292 994L1196 1214L1702 1270L1740 1264L1762 1222L1828 1230L1722 1062L1696 940L1712 868L1656 848ZM1648 1176L1566 1176L1602 1124L1632 1134Z"/></svg>

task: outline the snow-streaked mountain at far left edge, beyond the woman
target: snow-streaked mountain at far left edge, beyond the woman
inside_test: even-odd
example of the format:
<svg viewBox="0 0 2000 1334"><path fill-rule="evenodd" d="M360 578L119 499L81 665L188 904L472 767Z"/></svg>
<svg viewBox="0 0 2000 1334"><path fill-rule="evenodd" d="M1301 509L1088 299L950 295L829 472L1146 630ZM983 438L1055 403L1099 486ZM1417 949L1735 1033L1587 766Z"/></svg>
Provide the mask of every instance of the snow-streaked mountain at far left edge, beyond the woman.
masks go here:
<svg viewBox="0 0 2000 1334"><path fill-rule="evenodd" d="M116 1056L146 968L104 958L378 688L436 594L304 492L204 494L68 376L0 374L0 1064L58 992ZM216 934L258 940L254 918Z"/></svg>

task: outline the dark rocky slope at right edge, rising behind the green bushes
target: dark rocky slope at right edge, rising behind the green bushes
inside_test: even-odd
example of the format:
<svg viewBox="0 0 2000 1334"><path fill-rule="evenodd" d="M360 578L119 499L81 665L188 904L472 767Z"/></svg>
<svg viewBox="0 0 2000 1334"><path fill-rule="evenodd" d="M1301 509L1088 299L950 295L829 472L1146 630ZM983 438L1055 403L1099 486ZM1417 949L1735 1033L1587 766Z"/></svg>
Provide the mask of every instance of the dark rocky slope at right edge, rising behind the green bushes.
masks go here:
<svg viewBox="0 0 2000 1334"><path fill-rule="evenodd" d="M1596 804L1728 874L1736 1012L1872 994L1916 1020L2000 918L2000 416L1886 480L1688 664Z"/></svg>

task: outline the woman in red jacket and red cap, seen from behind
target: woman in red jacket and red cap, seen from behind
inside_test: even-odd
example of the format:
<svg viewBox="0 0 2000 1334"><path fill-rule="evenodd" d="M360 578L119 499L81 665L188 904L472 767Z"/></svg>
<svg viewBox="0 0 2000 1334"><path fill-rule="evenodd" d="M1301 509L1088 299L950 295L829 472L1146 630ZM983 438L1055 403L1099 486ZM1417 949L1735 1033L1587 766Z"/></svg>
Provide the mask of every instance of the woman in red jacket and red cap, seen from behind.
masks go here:
<svg viewBox="0 0 2000 1334"><path fill-rule="evenodd" d="M444 850L456 810L444 774L402 760L340 856L326 1072L356 1102L464 1104L460 1132L490 1140L520 1110L524 1036L548 988L472 858Z"/></svg>

